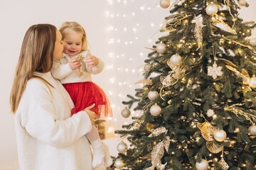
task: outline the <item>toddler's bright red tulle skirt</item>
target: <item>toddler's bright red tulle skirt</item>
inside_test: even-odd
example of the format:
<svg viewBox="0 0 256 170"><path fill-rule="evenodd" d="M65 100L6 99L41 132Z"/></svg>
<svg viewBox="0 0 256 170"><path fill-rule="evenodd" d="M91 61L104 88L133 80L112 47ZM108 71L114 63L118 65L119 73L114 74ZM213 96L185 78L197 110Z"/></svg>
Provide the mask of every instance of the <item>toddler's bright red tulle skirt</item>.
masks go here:
<svg viewBox="0 0 256 170"><path fill-rule="evenodd" d="M70 94L75 108L71 110L71 115L83 111L87 106L95 103L95 107L91 109L100 117L112 117L112 109L110 101L105 92L91 81L81 83L63 84Z"/></svg>

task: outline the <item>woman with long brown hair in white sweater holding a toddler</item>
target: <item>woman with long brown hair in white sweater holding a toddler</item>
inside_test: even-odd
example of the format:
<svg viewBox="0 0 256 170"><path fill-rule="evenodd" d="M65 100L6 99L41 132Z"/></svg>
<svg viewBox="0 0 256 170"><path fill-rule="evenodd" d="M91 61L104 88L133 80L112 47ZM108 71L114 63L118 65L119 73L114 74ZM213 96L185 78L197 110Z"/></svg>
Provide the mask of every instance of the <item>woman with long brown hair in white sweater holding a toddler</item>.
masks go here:
<svg viewBox="0 0 256 170"><path fill-rule="evenodd" d="M20 170L91 170L85 137L95 120L92 106L70 117L73 102L50 69L60 59L63 41L50 24L26 31L11 89Z"/></svg>

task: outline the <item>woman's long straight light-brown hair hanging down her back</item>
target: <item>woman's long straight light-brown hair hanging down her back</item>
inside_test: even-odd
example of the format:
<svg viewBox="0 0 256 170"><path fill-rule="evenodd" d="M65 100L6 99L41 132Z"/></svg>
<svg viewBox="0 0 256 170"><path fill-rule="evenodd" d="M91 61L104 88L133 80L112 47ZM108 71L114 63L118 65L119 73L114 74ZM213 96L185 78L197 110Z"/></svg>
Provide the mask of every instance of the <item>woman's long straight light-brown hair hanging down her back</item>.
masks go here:
<svg viewBox="0 0 256 170"><path fill-rule="evenodd" d="M50 72L53 66L57 28L50 24L33 25L26 31L11 88L11 112L15 113L33 72Z"/></svg>

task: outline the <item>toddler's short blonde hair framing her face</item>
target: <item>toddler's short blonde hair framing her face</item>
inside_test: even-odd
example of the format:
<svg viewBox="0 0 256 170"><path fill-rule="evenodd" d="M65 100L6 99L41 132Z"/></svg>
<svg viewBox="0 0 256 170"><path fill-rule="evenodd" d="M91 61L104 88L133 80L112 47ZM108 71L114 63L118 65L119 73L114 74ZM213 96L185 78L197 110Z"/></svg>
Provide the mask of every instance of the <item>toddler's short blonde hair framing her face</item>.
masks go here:
<svg viewBox="0 0 256 170"><path fill-rule="evenodd" d="M68 28L74 30L77 33L82 33L82 50L87 50L87 38L85 34L85 29L77 22L65 22L60 26L60 33L63 39L68 35Z"/></svg>

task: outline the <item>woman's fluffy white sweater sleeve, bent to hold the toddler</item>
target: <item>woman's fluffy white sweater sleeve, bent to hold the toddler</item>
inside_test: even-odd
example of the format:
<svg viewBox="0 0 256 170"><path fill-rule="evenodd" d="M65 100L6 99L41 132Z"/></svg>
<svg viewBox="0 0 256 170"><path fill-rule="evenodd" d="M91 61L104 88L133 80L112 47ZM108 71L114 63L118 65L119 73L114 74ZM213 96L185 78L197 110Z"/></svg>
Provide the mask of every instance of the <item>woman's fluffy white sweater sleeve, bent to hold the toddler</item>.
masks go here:
<svg viewBox="0 0 256 170"><path fill-rule="evenodd" d="M85 111L66 119L58 118L48 88L41 84L36 89L37 93L34 93L33 88L28 92L28 115L23 125L31 136L53 147L66 147L92 130L90 118Z"/></svg>

